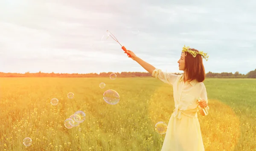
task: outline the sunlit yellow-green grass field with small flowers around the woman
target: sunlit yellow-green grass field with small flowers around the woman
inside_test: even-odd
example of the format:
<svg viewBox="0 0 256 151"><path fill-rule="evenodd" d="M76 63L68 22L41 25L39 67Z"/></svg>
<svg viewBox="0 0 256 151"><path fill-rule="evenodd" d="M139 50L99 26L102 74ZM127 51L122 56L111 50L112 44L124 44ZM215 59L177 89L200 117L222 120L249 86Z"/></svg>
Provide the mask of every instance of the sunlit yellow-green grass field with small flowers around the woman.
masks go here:
<svg viewBox="0 0 256 151"><path fill-rule="evenodd" d="M204 84L210 110L198 119L206 151L256 151L256 79ZM108 89L119 93L118 104L105 103ZM165 135L154 125L168 123L175 108L172 87L153 77L0 78L0 93L0 151L160 151ZM86 120L65 128L78 110ZM23 145L25 137L31 146Z"/></svg>

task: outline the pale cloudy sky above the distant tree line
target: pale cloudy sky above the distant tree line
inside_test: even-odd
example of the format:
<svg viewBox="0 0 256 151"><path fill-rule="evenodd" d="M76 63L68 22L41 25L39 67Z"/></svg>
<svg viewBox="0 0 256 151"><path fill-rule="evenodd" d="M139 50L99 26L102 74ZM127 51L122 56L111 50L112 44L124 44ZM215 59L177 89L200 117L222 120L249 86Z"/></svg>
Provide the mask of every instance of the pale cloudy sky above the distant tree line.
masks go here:
<svg viewBox="0 0 256 151"><path fill-rule="evenodd" d="M184 45L206 72L256 69L256 1L0 0L0 72L146 72L107 38L156 68L180 72Z"/></svg>

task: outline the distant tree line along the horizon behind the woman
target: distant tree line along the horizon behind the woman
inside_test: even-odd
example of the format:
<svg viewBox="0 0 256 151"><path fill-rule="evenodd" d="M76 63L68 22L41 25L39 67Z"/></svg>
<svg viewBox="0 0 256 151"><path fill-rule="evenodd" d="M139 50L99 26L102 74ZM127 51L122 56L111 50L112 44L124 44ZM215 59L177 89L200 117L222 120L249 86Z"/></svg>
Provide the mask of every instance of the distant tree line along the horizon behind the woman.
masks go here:
<svg viewBox="0 0 256 151"><path fill-rule="evenodd" d="M0 77L108 77L113 72L101 72L97 73L88 73L88 74L65 74L65 73L42 73L39 71L38 73L29 73L25 74L20 73L4 73L0 72ZM115 72L117 77L151 77L150 73L147 72ZM173 73L173 74L183 74L183 73ZM254 71L250 71L247 74L240 74L236 71L234 74L232 72L222 72L222 73L206 73L206 78L256 78L256 69Z"/></svg>

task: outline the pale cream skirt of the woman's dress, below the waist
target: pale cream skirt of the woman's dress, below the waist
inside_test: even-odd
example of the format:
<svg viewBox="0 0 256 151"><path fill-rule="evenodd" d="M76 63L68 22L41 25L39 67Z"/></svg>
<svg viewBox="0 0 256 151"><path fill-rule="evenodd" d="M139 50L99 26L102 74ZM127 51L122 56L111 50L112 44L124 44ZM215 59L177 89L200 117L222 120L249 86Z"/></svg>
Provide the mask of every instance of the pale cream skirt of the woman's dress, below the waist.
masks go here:
<svg viewBox="0 0 256 151"><path fill-rule="evenodd" d="M161 151L204 151L198 118L172 114Z"/></svg>

